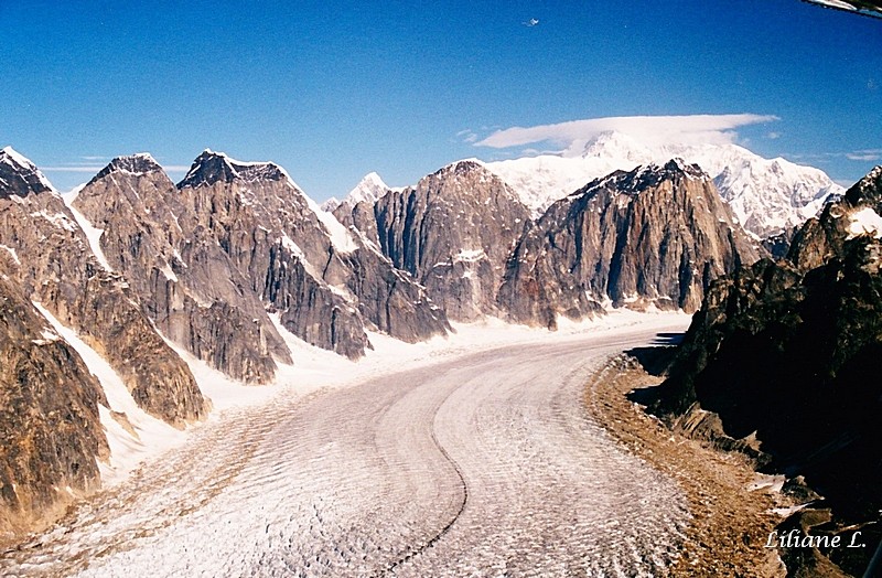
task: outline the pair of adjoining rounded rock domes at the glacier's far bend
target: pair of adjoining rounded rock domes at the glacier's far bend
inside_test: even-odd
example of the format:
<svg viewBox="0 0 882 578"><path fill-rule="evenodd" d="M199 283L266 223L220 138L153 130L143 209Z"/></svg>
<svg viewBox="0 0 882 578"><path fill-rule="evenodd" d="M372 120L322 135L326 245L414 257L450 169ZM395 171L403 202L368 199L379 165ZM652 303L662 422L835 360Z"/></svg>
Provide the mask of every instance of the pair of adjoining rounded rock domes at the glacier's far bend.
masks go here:
<svg viewBox="0 0 882 578"><path fill-rule="evenodd" d="M463 321L491 314L553 328L560 314L605 307L693 311L712 279L763 251L710 176L679 160L599 179L536 222L480 161L334 214Z"/></svg>

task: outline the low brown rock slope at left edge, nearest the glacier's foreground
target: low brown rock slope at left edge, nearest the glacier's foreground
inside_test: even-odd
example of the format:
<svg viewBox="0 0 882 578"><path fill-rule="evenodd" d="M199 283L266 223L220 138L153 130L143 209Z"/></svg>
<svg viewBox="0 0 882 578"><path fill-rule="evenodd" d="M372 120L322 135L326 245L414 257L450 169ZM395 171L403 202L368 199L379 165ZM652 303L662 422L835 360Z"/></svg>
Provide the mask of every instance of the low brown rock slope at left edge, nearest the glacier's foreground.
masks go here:
<svg viewBox="0 0 882 578"><path fill-rule="evenodd" d="M0 259L0 543L97 489L109 454L100 385L4 270Z"/></svg>

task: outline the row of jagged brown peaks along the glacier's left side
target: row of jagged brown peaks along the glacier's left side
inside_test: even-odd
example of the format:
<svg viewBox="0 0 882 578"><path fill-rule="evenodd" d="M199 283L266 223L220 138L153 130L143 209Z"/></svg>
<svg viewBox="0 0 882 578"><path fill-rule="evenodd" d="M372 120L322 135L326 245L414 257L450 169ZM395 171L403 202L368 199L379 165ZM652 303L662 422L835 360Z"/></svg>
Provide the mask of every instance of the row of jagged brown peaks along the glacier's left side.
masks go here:
<svg viewBox="0 0 882 578"><path fill-rule="evenodd" d="M178 428L204 418L211 402L170 343L259 384L275 378L277 363L297 362L280 328L353 358L370 347L368 330L417 341L449 329L423 288L319 211L281 168L212 151L179 185L140 153L115 159L63 199L6 149L0 276L9 304L0 350L3 370L15 372L0 375L3 407L14 414L3 430L2 533L51 520L99 485L105 432L118 429L105 419L126 424L138 442L109 406L107 385L65 339L41 329L50 327L44 315L106 360L148 416ZM44 344L53 345L36 347Z"/></svg>

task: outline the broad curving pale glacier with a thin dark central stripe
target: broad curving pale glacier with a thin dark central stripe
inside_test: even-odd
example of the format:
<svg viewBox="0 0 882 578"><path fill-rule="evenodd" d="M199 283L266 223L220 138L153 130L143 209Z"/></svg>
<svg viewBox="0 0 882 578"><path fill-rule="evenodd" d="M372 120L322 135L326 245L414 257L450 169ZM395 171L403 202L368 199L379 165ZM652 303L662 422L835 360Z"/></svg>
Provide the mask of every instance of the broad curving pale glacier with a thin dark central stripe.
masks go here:
<svg viewBox="0 0 882 578"><path fill-rule="evenodd" d="M676 550L685 499L581 396L609 355L688 322L623 311L556 333L490 321L415 345L372 334L357 363L280 328L297 364L268 387L191 357L208 421L0 572L650 576Z"/></svg>

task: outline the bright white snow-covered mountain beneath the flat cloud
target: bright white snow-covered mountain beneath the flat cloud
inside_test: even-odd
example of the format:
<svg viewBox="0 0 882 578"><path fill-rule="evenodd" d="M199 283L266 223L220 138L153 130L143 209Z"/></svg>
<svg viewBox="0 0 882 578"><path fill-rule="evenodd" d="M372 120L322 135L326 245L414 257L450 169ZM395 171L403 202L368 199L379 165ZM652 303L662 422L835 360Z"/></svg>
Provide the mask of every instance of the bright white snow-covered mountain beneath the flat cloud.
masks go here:
<svg viewBox="0 0 882 578"><path fill-rule="evenodd" d="M764 159L738 144L647 144L621 132L604 132L582 150L488 162L541 214L555 201L615 170L664 164L673 158L701 167L714 181L741 224L767 237L814 216L843 189L827 174L784 159Z"/></svg>

